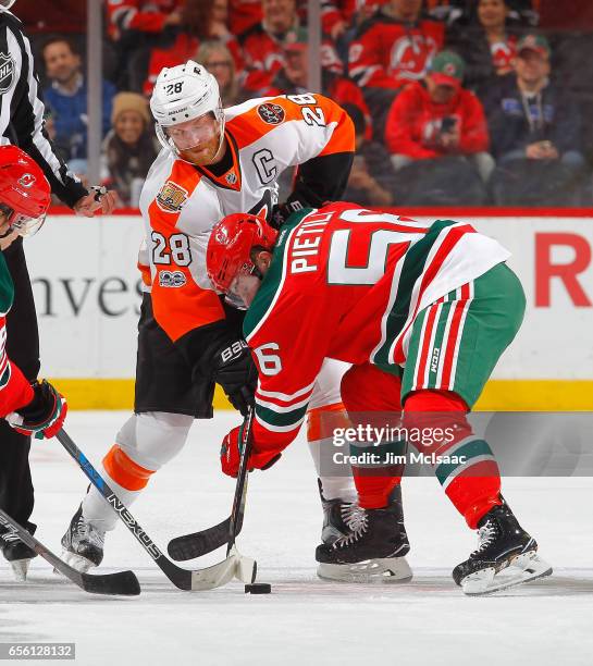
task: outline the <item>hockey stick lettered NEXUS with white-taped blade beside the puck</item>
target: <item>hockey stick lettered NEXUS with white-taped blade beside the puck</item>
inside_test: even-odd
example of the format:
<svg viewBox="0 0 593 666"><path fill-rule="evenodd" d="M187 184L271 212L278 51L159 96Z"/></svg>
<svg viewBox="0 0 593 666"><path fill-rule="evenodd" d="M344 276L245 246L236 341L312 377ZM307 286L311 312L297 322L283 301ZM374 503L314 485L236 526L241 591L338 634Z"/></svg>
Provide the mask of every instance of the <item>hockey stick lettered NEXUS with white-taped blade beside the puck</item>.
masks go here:
<svg viewBox="0 0 593 666"><path fill-rule="evenodd" d="M76 461L78 467L83 470L88 480L101 493L107 503L118 514L127 529L134 534L138 543L155 560L155 564L176 588L180 590L211 590L213 588L224 585L235 575L237 578L239 578L239 580L244 580L242 576L248 578L248 580L244 580L244 582L252 582L255 575L251 575L250 577L247 576L247 570L249 569L249 565L252 560L240 555L236 547L234 548L233 553L226 557L226 559L223 559L211 567L195 569L194 571L177 567L165 555L163 555L163 553L161 553L159 547L143 530L138 521L127 510L123 502L111 490L95 467L92 467L88 458L76 446L63 428L55 436L58 437L60 444L62 444L62 446Z"/></svg>

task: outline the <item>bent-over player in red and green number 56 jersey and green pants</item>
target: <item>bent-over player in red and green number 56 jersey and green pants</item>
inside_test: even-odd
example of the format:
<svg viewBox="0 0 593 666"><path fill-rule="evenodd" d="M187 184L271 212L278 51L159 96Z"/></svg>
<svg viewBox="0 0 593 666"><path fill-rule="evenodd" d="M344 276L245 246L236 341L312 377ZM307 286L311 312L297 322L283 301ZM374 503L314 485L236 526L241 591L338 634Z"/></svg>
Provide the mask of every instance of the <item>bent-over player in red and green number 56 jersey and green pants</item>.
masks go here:
<svg viewBox="0 0 593 666"><path fill-rule="evenodd" d="M295 439L323 359L353 363L342 380L353 422L391 415L405 432L433 433L421 453L479 530L478 548L453 572L468 594L552 571L503 499L494 455L466 417L522 321L523 289L508 257L467 223L424 224L342 202L294 213L277 237L259 218L231 215L208 247L214 285L249 306L244 333L259 370L250 468L268 468ZM238 435L226 435L221 453L231 476ZM390 454L405 445L357 442L351 451L378 462L369 469L356 457L365 510L350 534L318 547L319 562L360 570L371 552L399 554L388 498L401 471Z"/></svg>

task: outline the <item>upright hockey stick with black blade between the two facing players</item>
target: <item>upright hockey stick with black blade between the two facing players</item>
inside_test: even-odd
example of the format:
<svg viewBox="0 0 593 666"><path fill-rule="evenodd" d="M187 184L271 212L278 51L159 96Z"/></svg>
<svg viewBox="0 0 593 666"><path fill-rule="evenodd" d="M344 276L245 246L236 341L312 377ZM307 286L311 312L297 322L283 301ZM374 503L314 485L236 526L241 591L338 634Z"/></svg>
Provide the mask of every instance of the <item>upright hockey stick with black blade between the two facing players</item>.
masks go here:
<svg viewBox="0 0 593 666"><path fill-rule="evenodd" d="M247 461L251 453L252 418L252 409L250 408L245 417L245 427L243 429L243 456L247 456L245 461ZM235 538L240 533L243 528L245 501L247 498L246 471L246 464L243 465L242 457L231 516L225 518L222 522L219 522L219 525L214 525L201 532L194 532L193 534L184 534L183 536L172 539L166 546L166 551L173 559L177 562L194 559L195 557L201 557L223 545L230 544L226 551L228 553L232 544L235 543Z"/></svg>

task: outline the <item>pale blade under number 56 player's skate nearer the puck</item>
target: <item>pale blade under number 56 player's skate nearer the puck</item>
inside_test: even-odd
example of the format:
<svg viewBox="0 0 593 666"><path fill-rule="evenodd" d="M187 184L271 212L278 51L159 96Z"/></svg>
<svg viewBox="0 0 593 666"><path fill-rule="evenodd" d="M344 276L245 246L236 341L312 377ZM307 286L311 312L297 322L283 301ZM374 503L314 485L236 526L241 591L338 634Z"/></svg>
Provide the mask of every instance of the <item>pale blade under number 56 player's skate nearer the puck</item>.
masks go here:
<svg viewBox="0 0 593 666"><path fill-rule="evenodd" d="M405 557L367 559L354 564L321 563L319 578L354 583L405 583L412 579L412 571Z"/></svg>

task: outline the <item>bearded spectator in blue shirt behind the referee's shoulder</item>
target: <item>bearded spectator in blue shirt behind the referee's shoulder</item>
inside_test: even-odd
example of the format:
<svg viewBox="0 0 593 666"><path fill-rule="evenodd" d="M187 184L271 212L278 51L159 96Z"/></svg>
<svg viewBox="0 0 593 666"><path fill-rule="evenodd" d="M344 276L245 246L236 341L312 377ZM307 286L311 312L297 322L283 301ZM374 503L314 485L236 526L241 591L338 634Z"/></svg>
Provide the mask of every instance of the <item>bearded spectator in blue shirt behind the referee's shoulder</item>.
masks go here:
<svg viewBox="0 0 593 666"><path fill-rule="evenodd" d="M51 38L44 45L42 58L50 86L45 90L51 111L55 143L75 173L86 173L87 96L88 88L82 72L81 57L65 37ZM110 126L114 86L103 81L103 135Z"/></svg>

